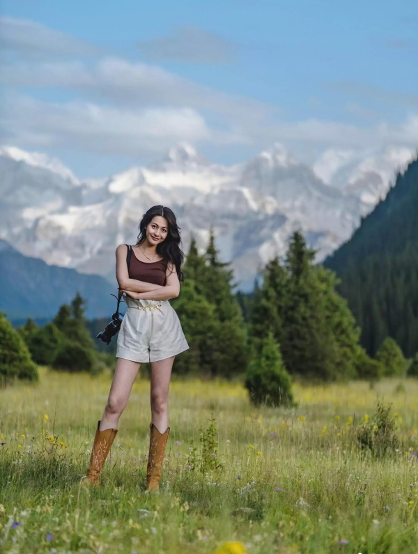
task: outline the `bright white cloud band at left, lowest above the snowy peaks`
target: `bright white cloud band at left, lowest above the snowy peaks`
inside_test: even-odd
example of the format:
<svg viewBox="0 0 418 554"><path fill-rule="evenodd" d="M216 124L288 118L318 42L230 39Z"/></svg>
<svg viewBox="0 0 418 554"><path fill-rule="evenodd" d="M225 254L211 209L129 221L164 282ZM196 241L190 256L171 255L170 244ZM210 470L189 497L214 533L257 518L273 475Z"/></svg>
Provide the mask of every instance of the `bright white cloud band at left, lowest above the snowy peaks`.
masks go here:
<svg viewBox="0 0 418 554"><path fill-rule="evenodd" d="M43 148L65 146L93 153L161 153L177 141L199 141L210 132L190 108L123 109L89 102L40 102L8 96L3 128L9 142Z"/></svg>

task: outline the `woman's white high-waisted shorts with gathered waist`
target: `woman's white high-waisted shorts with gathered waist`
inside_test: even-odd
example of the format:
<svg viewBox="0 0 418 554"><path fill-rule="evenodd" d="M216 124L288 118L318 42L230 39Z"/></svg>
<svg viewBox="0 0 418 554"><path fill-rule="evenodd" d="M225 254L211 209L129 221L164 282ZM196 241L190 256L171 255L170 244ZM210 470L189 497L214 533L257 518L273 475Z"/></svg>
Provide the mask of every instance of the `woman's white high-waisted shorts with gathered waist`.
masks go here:
<svg viewBox="0 0 418 554"><path fill-rule="evenodd" d="M127 305L118 334L116 357L132 362L158 362L189 348L169 300L134 300Z"/></svg>

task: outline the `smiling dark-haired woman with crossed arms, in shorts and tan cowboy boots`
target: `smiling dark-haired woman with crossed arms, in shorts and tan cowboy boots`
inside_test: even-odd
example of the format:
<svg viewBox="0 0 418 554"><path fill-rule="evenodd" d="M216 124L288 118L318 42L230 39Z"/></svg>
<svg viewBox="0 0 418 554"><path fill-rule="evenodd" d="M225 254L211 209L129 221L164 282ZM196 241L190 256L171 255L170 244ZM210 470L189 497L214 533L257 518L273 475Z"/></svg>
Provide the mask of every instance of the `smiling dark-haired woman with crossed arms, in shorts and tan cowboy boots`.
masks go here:
<svg viewBox="0 0 418 554"><path fill-rule="evenodd" d="M127 267L127 245L116 248L116 279L127 311L118 335L116 370L109 399L98 422L90 465L83 482L98 485L100 471L118 432L119 417L127 404L141 364L150 362L150 449L147 490L158 490L168 426L168 397L174 358L189 348L176 311L169 303L183 280L180 231L169 208L153 206L139 224Z"/></svg>

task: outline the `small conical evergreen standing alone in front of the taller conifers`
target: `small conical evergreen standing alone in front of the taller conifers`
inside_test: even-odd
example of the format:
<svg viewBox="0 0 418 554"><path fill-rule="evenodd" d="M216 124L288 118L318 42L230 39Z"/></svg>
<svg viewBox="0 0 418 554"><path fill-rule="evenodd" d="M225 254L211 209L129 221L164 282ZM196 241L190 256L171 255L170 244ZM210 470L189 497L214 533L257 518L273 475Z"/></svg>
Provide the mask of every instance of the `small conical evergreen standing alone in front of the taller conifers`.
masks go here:
<svg viewBox="0 0 418 554"><path fill-rule="evenodd" d="M262 339L261 354L253 355L245 376L245 387L251 402L259 406L293 404L291 378L281 360L279 345L272 332Z"/></svg>

